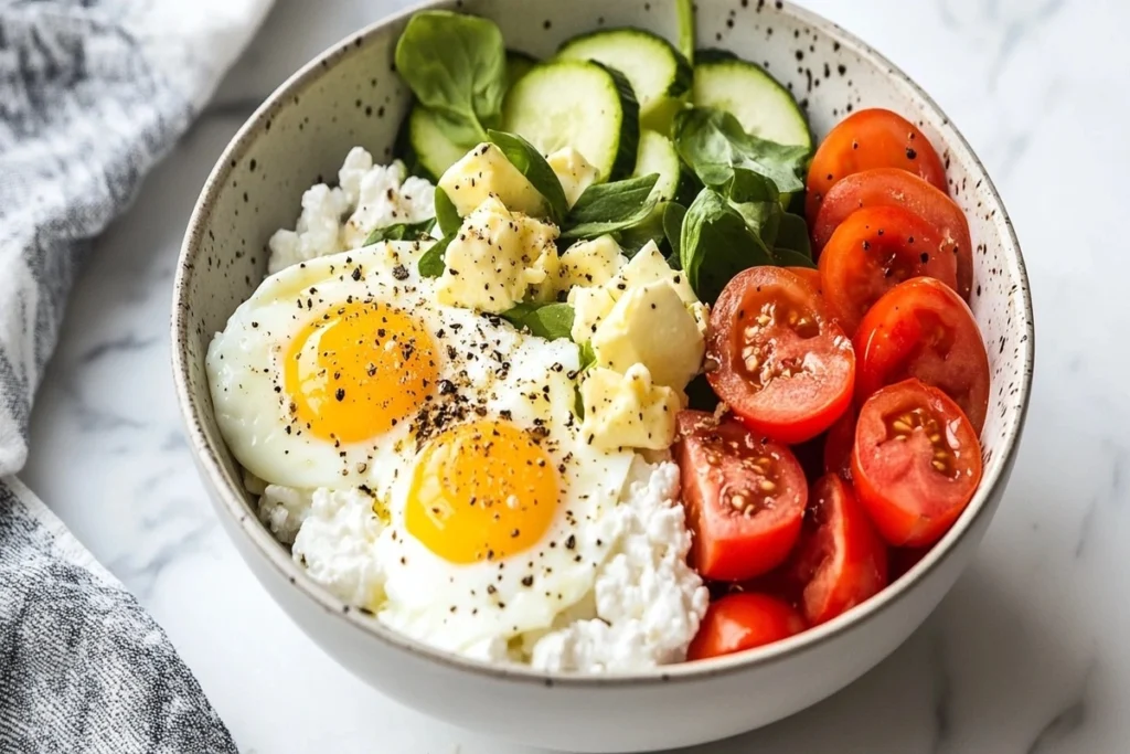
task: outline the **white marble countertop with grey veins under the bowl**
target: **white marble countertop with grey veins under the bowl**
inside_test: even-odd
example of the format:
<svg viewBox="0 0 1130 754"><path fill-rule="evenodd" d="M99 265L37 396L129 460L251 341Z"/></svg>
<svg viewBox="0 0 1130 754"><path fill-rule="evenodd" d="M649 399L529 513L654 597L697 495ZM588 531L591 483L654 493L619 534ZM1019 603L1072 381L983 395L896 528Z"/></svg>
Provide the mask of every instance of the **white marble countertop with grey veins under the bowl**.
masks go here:
<svg viewBox="0 0 1130 754"><path fill-rule="evenodd" d="M166 627L241 747L527 752L427 720L318 650L244 567L189 458L168 369L181 235L251 110L402 0L280 0L216 104L98 243L36 406L24 479ZM791 719L696 752L1114 753L1130 744L1130 167L1121 0L807 0L915 77L984 158L1032 276L1027 434L973 567L888 660ZM1115 226L1116 228L1118 226Z"/></svg>

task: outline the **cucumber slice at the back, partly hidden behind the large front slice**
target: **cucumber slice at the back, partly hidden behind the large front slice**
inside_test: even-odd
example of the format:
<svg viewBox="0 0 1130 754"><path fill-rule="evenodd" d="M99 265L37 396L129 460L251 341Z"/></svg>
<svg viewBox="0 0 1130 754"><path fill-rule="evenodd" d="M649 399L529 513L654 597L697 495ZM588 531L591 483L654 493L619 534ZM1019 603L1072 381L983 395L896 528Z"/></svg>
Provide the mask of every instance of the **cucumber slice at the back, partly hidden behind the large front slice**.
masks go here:
<svg viewBox="0 0 1130 754"><path fill-rule="evenodd" d="M690 90L687 59L667 40L637 28L575 36L558 51L562 60L594 60L624 73L640 102L640 123L666 132Z"/></svg>

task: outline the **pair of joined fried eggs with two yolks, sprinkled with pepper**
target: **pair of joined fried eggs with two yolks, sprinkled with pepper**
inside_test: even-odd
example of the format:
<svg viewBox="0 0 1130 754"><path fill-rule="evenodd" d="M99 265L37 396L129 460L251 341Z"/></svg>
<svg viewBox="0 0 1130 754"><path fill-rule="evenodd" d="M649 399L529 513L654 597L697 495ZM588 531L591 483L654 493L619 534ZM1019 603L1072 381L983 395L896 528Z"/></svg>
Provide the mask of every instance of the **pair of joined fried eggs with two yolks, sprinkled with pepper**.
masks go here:
<svg viewBox="0 0 1130 754"><path fill-rule="evenodd" d="M581 435L574 344L436 303L420 253L382 243L277 272L207 369L251 474L372 496L384 593L366 607L468 651L548 629L591 592L634 453Z"/></svg>

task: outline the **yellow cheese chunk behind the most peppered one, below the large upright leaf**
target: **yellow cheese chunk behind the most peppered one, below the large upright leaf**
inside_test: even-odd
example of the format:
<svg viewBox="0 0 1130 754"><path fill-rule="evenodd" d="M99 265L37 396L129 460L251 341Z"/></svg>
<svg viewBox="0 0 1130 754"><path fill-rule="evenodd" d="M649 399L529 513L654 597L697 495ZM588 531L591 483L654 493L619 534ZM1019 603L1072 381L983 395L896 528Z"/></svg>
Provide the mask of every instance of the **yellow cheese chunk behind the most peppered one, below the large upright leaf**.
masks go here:
<svg viewBox="0 0 1130 754"><path fill-rule="evenodd" d="M480 144L440 179L460 217L475 211L488 197L497 197L507 209L545 217L545 198L493 144Z"/></svg>

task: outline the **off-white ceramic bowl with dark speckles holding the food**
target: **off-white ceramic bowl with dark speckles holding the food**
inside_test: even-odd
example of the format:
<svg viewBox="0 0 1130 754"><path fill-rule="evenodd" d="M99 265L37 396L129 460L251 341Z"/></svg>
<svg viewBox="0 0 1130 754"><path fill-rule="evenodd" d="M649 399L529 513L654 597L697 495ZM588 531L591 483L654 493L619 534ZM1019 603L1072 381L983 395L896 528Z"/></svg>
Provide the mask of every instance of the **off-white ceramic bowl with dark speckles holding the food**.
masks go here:
<svg viewBox="0 0 1130 754"><path fill-rule="evenodd" d="M506 40L547 57L570 36L633 25L675 38L670 0L467 0ZM763 63L807 107L814 130L854 109L916 121L942 154L976 245L973 311L989 344L993 389L984 480L953 529L913 570L838 618L770 647L704 662L611 676L547 675L451 657L383 629L319 588L257 520L212 418L205 352L262 279L270 234L293 227L302 192L363 145L389 157L409 93L392 50L409 14L359 31L287 81L241 129L200 196L181 253L173 366L201 475L224 527L286 612L376 688L450 722L570 751L683 746L731 736L842 688L890 653L968 564L1000 502L1029 395L1032 304L1016 236L984 168L914 83L866 44L782 2L698 0L698 43Z"/></svg>

